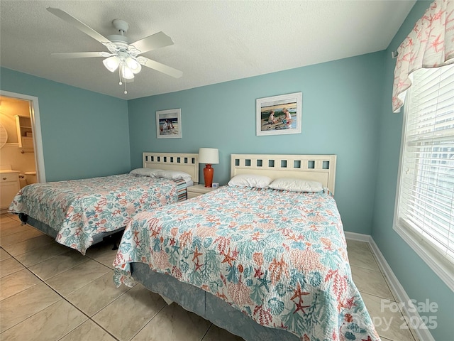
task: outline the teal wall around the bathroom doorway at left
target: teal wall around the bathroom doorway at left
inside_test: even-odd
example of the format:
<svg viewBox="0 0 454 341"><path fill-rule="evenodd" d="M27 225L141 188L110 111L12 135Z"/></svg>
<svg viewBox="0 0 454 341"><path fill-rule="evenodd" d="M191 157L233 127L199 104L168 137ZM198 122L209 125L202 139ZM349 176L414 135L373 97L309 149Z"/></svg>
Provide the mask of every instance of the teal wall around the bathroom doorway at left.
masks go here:
<svg viewBox="0 0 454 341"><path fill-rule="evenodd" d="M4 67L0 75L1 90L38 97L47 181L130 171L125 100Z"/></svg>

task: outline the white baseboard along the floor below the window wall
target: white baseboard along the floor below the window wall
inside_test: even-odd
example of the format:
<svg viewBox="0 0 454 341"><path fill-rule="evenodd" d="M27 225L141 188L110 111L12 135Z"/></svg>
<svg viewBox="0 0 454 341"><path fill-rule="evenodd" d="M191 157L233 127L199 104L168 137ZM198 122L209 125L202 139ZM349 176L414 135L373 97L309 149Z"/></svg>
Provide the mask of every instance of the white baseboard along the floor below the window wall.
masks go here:
<svg viewBox="0 0 454 341"><path fill-rule="evenodd" d="M391 286L392 293L397 296L397 300L399 302L409 302L410 297L406 293L404 287L402 284L399 282L397 279L396 275L394 275L394 272L391 269L391 266L389 266L388 262L386 259L384 259L384 256L382 254L382 251L378 248L377 244L375 244L374 239L372 239L372 236L368 234L360 234L360 233L355 233L355 232L344 232L345 233L345 238L347 239L352 239L352 240L358 240L360 242L367 242L370 244L370 247L372 248L372 252L375 254L375 257L377 259L378 265L380 266L380 269L384 273L385 276L387 276L389 286ZM419 323L418 325L424 325L423 321L421 320L421 316L417 311L409 311L407 308L407 305L404 304L403 308L405 310L406 316L409 318L409 320L418 320ZM414 309L413 309L414 310ZM413 329L412 330L418 337L419 340L424 340L424 341L435 341L433 336L431 335L431 332L429 332L427 329Z"/></svg>

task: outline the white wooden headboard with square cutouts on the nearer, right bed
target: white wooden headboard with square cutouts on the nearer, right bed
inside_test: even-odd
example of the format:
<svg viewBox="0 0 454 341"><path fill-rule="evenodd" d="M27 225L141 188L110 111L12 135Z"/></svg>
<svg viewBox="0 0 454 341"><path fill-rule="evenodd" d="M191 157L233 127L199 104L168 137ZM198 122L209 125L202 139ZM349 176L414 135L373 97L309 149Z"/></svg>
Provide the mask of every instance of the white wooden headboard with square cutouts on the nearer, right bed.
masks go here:
<svg viewBox="0 0 454 341"><path fill-rule="evenodd" d="M336 155L231 154L231 177L258 174L319 181L334 194Z"/></svg>

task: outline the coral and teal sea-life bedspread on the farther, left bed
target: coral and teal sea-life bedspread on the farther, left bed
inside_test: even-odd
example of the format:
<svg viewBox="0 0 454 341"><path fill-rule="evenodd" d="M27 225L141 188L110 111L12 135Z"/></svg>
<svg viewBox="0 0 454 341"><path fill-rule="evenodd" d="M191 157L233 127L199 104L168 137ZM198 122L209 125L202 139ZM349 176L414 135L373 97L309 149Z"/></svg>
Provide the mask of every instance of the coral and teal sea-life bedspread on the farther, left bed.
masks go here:
<svg viewBox="0 0 454 341"><path fill-rule="evenodd" d="M35 183L22 188L9 212L24 213L55 229L55 240L85 254L93 236L125 227L133 215L177 202L184 180L120 174Z"/></svg>

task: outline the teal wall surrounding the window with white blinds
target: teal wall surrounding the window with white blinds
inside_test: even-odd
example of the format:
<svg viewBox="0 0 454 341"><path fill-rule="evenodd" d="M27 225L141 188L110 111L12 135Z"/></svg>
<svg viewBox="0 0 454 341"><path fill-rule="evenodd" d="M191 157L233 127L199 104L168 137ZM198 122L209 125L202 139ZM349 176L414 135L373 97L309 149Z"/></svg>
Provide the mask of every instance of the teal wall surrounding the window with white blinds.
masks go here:
<svg viewBox="0 0 454 341"><path fill-rule="evenodd" d="M416 3L386 51L383 109L380 113L380 136L377 146L379 162L375 186L372 238L409 297L418 302L425 302L428 299L438 304L438 313L421 313L421 315L436 315L438 327L431 330L431 334L437 341L448 341L453 340L454 335L454 293L392 229L403 108L400 114L392 113L392 82L396 60L391 58L391 51L397 50L400 43L410 33L414 23L423 16L430 4L431 1Z"/></svg>

